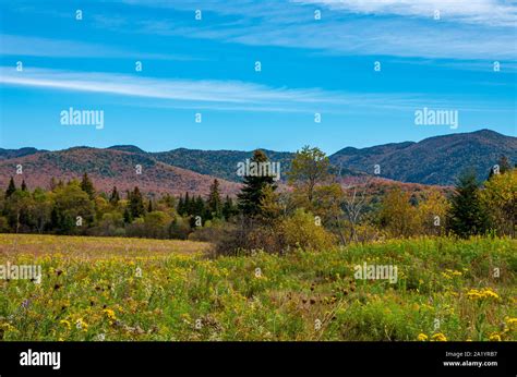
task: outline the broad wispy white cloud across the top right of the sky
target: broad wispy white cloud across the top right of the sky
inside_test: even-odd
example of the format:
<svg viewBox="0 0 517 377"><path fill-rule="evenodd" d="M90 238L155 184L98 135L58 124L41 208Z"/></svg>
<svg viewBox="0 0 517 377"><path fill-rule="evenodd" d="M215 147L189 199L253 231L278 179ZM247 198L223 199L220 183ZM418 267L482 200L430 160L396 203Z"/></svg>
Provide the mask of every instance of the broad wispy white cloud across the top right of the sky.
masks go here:
<svg viewBox="0 0 517 377"><path fill-rule="evenodd" d="M142 1L160 17L137 21L135 33L215 39L252 46L310 48L338 54L429 59L517 60L515 2L495 0ZM206 12L196 25L171 11ZM322 20L314 20L314 10ZM433 20L434 11L441 20ZM219 15L219 20L213 14ZM359 15L358 15L359 14ZM223 19L223 20L220 20Z"/></svg>

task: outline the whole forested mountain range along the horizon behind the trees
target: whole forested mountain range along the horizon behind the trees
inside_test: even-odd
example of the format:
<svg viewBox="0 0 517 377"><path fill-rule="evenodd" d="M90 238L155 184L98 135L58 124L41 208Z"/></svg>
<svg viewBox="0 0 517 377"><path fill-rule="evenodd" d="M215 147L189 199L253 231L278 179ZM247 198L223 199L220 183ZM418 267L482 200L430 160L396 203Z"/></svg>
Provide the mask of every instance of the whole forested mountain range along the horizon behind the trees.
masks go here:
<svg viewBox="0 0 517 377"><path fill-rule="evenodd" d="M280 162L281 171L289 170L293 153L263 149L272 161ZM32 147L0 148L0 186L11 175L26 181L29 187L48 186L51 177L72 179L87 172L96 186L109 191L131 190L139 185L149 193L184 192L205 195L217 178L224 194L235 195L241 178L237 163L251 158L252 151L197 150L178 148L147 153L133 145L109 148L72 147L63 150L40 150ZM481 130L472 133L449 134L421 142L402 142L366 148L346 147L329 156L341 175L373 174L378 166L384 179L426 185L452 185L462 171L473 168L479 179L485 179L490 168L501 156L517 162L517 137ZM16 175L22 166L23 174ZM137 173L139 167L142 173Z"/></svg>

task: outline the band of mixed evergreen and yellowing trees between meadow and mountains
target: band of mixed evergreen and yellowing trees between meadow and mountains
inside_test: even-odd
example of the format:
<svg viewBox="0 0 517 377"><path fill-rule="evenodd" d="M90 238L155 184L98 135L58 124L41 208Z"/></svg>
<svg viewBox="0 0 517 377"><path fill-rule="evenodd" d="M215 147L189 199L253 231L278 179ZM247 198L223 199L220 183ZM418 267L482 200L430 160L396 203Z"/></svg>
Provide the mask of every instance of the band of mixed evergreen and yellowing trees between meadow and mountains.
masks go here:
<svg viewBox="0 0 517 377"><path fill-rule="evenodd" d="M268 162L255 150L252 162ZM345 185L318 148L297 151L281 190L273 175L247 175L237 198L223 198L215 179L207 196L146 196L137 186L98 192L87 173L49 190L16 187L11 178L0 196L0 231L55 234L193 239L220 253L265 248L323 248L350 242L419 235L516 234L517 170L502 157L484 182L460 174L444 193L418 195L396 184L383 192L363 175Z"/></svg>

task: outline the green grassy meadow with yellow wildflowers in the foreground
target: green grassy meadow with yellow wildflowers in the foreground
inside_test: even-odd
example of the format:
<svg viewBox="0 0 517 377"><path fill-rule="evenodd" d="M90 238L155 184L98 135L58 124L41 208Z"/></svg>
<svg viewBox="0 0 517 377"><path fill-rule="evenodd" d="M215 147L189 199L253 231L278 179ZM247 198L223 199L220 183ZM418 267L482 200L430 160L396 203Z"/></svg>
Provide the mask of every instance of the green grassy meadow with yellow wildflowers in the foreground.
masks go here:
<svg viewBox="0 0 517 377"><path fill-rule="evenodd" d="M183 241L0 234L2 340L517 340L517 241L419 239L287 256ZM397 280L354 266L390 265Z"/></svg>

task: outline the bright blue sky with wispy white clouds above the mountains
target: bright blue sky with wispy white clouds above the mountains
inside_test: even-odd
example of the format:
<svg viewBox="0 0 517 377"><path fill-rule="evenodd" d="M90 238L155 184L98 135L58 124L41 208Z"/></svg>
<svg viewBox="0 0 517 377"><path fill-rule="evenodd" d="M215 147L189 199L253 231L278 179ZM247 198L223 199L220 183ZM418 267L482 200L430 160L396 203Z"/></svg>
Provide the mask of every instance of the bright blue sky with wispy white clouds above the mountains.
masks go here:
<svg viewBox="0 0 517 377"><path fill-rule="evenodd" d="M0 0L0 96L1 148L517 136L517 1Z"/></svg>

